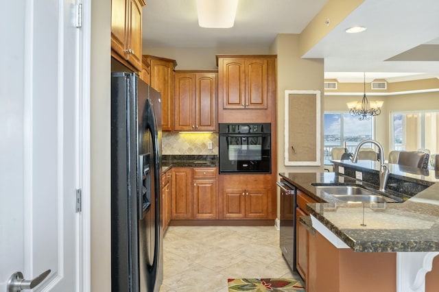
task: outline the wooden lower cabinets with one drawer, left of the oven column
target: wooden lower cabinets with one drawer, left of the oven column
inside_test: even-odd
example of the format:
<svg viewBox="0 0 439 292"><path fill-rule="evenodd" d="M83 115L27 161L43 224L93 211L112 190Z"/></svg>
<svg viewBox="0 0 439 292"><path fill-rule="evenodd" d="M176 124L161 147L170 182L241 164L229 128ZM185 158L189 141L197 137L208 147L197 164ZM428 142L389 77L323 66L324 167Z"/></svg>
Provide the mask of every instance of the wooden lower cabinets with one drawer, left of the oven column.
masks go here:
<svg viewBox="0 0 439 292"><path fill-rule="evenodd" d="M217 168L176 167L171 178L171 219L217 219Z"/></svg>

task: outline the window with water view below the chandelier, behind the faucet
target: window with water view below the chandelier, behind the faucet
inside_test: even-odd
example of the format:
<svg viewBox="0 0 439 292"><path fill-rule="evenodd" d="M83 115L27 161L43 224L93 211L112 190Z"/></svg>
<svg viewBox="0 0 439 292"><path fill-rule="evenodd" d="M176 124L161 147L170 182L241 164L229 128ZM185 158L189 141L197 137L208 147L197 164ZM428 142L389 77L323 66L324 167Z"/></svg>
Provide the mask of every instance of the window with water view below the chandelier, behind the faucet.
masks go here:
<svg viewBox="0 0 439 292"><path fill-rule="evenodd" d="M324 160L331 160L334 147L353 152L360 141L373 138L373 120L359 121L348 112L324 113Z"/></svg>

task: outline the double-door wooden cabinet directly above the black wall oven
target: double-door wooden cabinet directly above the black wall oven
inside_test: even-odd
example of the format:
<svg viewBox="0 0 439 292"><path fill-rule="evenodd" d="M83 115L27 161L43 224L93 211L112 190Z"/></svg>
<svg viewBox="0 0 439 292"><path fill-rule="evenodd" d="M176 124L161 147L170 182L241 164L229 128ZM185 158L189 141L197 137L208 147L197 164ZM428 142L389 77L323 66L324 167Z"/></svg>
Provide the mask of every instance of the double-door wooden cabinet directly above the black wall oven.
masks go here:
<svg viewBox="0 0 439 292"><path fill-rule="evenodd" d="M274 56L217 56L219 72L219 96L224 109L267 109L269 62Z"/></svg>

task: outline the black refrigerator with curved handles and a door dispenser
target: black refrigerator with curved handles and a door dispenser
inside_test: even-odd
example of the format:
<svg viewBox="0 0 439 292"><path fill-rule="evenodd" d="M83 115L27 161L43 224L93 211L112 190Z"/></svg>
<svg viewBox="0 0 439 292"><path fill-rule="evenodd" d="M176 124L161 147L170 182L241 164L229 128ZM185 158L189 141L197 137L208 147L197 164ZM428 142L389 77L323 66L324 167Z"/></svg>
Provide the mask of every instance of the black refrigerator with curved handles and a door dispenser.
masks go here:
<svg viewBox="0 0 439 292"><path fill-rule="evenodd" d="M163 282L161 94L135 73L111 75L111 285Z"/></svg>

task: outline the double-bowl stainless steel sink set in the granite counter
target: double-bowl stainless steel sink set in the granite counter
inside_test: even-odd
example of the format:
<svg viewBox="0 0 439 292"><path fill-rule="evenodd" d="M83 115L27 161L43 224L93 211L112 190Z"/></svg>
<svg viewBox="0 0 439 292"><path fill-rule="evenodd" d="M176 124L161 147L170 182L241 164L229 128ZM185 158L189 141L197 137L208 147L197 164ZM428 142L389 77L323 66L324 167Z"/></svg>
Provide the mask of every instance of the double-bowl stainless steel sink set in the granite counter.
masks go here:
<svg viewBox="0 0 439 292"><path fill-rule="evenodd" d="M394 199L373 193L361 186L314 186L316 186L320 192L323 192L326 195L331 195L344 202L396 202Z"/></svg>

